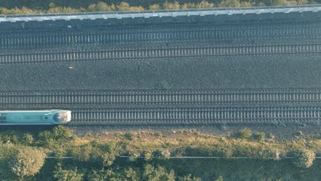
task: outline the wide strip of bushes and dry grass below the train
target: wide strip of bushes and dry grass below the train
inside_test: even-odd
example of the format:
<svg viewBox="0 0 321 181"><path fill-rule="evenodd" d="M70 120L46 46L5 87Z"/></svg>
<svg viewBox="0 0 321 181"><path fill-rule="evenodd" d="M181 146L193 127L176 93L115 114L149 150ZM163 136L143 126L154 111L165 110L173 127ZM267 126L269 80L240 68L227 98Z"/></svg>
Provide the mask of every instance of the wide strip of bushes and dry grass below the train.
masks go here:
<svg viewBox="0 0 321 181"><path fill-rule="evenodd" d="M0 131L0 180L320 180L320 135ZM202 157L202 158L195 158ZM212 158L209 158L212 157ZM218 157L218 158L213 158ZM282 173L282 174L281 174Z"/></svg>

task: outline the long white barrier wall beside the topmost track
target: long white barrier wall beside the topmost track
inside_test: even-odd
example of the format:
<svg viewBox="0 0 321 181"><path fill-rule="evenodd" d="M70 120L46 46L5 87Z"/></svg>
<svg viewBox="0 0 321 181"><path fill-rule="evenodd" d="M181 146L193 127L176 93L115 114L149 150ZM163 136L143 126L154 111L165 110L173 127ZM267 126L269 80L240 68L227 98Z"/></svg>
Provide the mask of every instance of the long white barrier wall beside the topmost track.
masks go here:
<svg viewBox="0 0 321 181"><path fill-rule="evenodd" d="M167 16L206 16L206 15L235 15L235 14L263 14L263 13L289 13L289 12L319 12L321 5L294 5L294 6L272 6L254 8L211 8L190 10L156 10L141 12L83 12L83 13L61 13L61 14L16 14L1 15L1 22L16 21L56 21L71 19L134 19Z"/></svg>

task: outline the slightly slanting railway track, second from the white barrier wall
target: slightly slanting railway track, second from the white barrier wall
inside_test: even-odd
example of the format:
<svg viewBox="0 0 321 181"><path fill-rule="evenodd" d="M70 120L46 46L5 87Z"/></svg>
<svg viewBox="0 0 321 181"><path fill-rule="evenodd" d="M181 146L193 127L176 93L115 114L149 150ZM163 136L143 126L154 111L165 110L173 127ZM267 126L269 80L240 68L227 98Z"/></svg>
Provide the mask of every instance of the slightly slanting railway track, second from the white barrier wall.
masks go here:
<svg viewBox="0 0 321 181"><path fill-rule="evenodd" d="M88 60L115 60L141 58L180 58L201 56L250 56L273 54L321 53L320 43L289 45L235 45L207 47L170 47L150 49L117 49L60 51L42 53L0 54L0 64L17 64L32 62L62 62Z"/></svg>

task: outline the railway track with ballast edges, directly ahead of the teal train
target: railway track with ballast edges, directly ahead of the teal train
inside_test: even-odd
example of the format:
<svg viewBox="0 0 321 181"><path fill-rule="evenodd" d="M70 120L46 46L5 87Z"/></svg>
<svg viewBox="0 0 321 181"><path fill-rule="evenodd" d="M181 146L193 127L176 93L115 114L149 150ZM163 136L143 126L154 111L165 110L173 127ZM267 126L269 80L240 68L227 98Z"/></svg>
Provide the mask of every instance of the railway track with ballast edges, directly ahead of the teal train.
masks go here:
<svg viewBox="0 0 321 181"><path fill-rule="evenodd" d="M321 108L167 108L72 110L71 124L212 124L312 123L320 124Z"/></svg>

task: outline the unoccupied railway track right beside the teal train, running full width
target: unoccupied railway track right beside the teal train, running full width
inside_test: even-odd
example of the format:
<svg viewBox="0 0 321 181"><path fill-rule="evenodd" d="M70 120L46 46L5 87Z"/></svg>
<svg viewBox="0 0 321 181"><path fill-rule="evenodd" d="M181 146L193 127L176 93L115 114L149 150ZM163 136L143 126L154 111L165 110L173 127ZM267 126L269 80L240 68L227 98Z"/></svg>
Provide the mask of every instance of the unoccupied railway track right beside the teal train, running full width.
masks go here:
<svg viewBox="0 0 321 181"><path fill-rule="evenodd" d="M0 93L0 105L250 104L321 102L321 90L182 90Z"/></svg>

